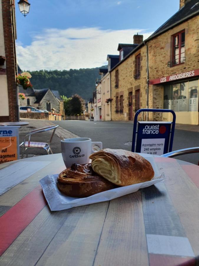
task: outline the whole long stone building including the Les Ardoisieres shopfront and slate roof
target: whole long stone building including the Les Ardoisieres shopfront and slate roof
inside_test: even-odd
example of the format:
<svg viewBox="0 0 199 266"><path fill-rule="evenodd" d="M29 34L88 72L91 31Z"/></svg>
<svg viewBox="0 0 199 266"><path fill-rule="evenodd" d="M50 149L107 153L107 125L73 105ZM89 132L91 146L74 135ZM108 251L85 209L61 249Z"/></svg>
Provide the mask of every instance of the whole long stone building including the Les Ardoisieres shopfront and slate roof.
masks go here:
<svg viewBox="0 0 199 266"><path fill-rule="evenodd" d="M199 4L180 0L180 9L111 69L112 120L131 120L139 108L165 108L176 122L199 124ZM136 43L134 41L134 43ZM120 52L121 53L121 52ZM143 119L170 121L169 114Z"/></svg>

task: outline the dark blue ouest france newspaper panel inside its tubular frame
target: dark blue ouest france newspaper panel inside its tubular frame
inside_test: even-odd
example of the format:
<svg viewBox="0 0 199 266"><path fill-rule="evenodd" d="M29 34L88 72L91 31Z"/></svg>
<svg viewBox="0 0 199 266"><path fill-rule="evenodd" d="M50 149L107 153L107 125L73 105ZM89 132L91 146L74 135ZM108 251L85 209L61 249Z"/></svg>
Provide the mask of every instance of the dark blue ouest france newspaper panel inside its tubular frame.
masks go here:
<svg viewBox="0 0 199 266"><path fill-rule="evenodd" d="M168 152L172 122L138 121L136 152L162 155Z"/></svg>

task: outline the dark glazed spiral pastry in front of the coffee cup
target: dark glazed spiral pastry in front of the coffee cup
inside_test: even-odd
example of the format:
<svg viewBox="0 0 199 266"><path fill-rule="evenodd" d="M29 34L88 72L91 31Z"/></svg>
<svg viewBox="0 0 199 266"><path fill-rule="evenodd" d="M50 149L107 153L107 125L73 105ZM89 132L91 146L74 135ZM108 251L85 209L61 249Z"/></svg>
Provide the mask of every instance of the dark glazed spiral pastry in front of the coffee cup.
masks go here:
<svg viewBox="0 0 199 266"><path fill-rule="evenodd" d="M116 186L95 173L90 163L84 165L73 163L59 174L57 187L67 196L83 198Z"/></svg>

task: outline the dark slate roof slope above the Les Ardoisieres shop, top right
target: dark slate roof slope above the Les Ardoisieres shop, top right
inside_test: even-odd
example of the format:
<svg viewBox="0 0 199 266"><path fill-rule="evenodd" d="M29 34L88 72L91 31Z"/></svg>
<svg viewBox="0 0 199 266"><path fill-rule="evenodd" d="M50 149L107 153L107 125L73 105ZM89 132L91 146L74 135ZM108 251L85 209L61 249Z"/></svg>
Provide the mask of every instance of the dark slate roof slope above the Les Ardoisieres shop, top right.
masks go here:
<svg viewBox="0 0 199 266"><path fill-rule="evenodd" d="M198 4L197 4L198 3ZM180 22L180 20L185 20L186 17L194 15L199 12L199 1L190 0L184 6L182 6L170 19L168 19L162 26L160 26L149 38L152 38L154 35L166 30L168 27L172 27L173 24Z"/></svg>

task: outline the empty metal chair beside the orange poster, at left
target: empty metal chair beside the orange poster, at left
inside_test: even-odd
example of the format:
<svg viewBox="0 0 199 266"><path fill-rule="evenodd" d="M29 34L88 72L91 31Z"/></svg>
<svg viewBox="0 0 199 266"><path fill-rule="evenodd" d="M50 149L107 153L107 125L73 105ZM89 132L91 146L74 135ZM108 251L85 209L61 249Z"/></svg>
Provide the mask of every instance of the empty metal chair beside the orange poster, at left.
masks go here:
<svg viewBox="0 0 199 266"><path fill-rule="evenodd" d="M32 130L30 133L28 133L25 137L24 137L24 141L19 145L19 147L22 147L23 150L22 150L22 159L24 158L24 151L26 151L27 149L44 149L47 154L50 154L49 151L52 153L52 150L50 148L50 144L52 142L52 139L53 139L53 136L55 134L55 130L56 128L58 127L59 125L55 125L55 126L46 126L46 127L42 127L42 128L39 128L39 129L35 129L35 130ZM46 131L49 131L49 130L52 130L53 129L53 132L52 132L52 136L50 138L50 142L49 143L46 143L46 142L33 142L33 141L30 141L30 138L32 135L34 134L37 134L37 133L41 133L41 132L46 132ZM26 141L26 138L28 137L28 141Z"/></svg>

